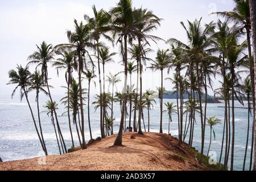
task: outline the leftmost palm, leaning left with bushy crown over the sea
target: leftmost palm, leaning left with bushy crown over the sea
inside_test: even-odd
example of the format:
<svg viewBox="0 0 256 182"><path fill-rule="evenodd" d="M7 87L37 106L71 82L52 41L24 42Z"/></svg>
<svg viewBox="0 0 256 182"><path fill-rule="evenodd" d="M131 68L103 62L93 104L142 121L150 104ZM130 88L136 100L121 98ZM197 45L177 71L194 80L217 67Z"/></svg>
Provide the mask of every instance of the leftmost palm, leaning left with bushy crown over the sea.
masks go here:
<svg viewBox="0 0 256 182"><path fill-rule="evenodd" d="M7 85L16 84L16 88L14 89L13 94L11 94L11 98L13 98L16 90L20 88L20 101L22 101L24 96L26 97L27 104L28 104L28 107L30 108L30 113L35 125L36 134L38 134L40 144L43 148L43 151L46 153L46 148L44 147L42 136L40 136L40 133L38 131L38 126L36 126L36 121L30 105L30 101L28 101L28 85L30 85L31 73L30 71L28 71L28 67L23 68L22 65L17 65L16 69L18 71L15 71L14 69L11 69L9 71L10 81Z"/></svg>

